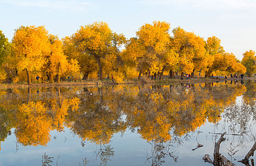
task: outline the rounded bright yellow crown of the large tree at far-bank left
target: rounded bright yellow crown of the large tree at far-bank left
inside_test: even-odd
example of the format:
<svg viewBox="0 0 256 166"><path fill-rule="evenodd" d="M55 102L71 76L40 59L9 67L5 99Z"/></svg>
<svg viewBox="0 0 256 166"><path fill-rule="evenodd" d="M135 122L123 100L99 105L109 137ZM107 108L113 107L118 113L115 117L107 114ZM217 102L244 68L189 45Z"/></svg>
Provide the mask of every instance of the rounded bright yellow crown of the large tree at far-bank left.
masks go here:
<svg viewBox="0 0 256 166"><path fill-rule="evenodd" d="M24 27L15 30L13 54L19 59L18 69L39 70L49 55L48 31L43 27Z"/></svg>

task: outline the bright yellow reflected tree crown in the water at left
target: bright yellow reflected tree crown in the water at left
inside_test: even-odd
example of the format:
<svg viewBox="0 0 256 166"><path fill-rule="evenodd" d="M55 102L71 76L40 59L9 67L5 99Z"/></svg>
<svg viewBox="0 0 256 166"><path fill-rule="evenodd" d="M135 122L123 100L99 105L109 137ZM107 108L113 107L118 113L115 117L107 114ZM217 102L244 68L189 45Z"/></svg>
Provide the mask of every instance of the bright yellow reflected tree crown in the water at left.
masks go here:
<svg viewBox="0 0 256 166"><path fill-rule="evenodd" d="M50 120L42 102L29 102L18 108L17 140L24 146L46 146L50 140Z"/></svg>

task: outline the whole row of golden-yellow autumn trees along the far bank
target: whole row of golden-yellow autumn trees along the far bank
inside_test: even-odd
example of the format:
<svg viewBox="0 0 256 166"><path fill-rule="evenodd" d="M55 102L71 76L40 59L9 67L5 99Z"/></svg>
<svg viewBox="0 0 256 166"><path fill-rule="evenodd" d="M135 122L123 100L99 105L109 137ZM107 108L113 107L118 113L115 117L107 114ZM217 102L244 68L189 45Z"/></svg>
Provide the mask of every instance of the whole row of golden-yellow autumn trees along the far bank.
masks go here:
<svg viewBox="0 0 256 166"><path fill-rule="evenodd" d="M240 61L224 50L219 38L205 40L180 27L171 30L165 21L144 24L131 38L113 32L105 22L81 26L61 39L44 26L20 26L10 41L0 31L2 83L104 80L110 74L123 83L141 77L172 78L174 72L181 79L184 74L254 74L256 55L245 51Z"/></svg>

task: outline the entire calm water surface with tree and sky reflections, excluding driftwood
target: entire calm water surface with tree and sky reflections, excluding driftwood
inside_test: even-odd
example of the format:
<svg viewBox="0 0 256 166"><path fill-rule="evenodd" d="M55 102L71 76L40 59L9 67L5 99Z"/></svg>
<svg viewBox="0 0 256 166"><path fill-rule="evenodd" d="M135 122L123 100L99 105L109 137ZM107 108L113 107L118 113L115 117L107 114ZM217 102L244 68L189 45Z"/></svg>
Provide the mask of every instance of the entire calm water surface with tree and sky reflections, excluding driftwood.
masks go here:
<svg viewBox="0 0 256 166"><path fill-rule="evenodd" d="M225 131L220 153L243 166L255 122L248 80L3 89L0 166L210 166Z"/></svg>

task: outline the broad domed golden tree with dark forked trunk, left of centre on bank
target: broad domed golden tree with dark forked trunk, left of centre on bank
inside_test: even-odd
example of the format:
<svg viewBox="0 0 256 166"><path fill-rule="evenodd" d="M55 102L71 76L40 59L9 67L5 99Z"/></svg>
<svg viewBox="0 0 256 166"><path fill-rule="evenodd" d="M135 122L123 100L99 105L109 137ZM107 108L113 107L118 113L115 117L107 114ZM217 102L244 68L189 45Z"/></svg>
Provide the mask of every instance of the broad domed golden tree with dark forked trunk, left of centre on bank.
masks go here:
<svg viewBox="0 0 256 166"><path fill-rule="evenodd" d="M72 41L77 50L87 53L98 63L100 79L103 79L103 67L108 64L102 62L104 58L116 59L118 47L124 43L125 37L113 33L105 22L95 22L80 29L72 36ZM84 54L85 55L85 54Z"/></svg>

